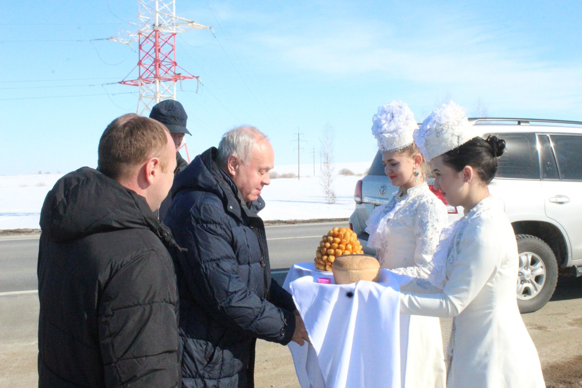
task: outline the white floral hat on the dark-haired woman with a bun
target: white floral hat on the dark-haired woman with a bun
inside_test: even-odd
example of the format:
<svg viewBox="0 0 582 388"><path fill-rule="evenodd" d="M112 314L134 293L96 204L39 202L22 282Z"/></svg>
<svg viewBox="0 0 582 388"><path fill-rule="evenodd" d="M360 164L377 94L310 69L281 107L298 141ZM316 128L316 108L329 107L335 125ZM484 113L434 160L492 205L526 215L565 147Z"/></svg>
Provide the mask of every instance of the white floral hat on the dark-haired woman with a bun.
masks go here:
<svg viewBox="0 0 582 388"><path fill-rule="evenodd" d="M480 134L465 116L465 109L450 101L424 119L420 128L414 131L414 143L424 159L430 162L477 136Z"/></svg>

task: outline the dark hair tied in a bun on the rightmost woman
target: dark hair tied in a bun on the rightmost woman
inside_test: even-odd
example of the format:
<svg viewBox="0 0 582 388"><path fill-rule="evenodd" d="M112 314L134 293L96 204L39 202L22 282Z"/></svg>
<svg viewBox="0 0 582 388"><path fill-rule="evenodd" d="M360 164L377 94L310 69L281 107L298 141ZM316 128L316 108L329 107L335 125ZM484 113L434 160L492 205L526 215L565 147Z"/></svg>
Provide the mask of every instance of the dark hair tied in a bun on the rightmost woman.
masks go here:
<svg viewBox="0 0 582 388"><path fill-rule="evenodd" d="M497 172L497 158L505 151L505 140L492 135L485 140L482 137L474 137L467 143L459 145L443 154L443 162L455 169L462 171L465 166L471 166L486 184L491 183Z"/></svg>

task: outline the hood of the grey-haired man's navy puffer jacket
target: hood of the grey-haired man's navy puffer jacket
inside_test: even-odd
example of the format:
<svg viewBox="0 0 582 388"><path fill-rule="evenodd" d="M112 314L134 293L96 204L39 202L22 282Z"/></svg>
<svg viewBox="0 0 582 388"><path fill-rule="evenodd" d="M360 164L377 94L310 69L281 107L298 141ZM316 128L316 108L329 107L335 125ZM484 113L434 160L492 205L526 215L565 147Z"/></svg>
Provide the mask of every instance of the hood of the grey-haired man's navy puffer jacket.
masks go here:
<svg viewBox="0 0 582 388"><path fill-rule="evenodd" d="M249 216L256 216L265 207L265 201L260 196L250 204L243 201L235 182L215 162L217 151L216 147L211 147L196 156L186 169L176 176L172 195L175 197L180 190L184 189L207 191L217 195L225 205L225 209L239 218L242 218L242 212Z"/></svg>

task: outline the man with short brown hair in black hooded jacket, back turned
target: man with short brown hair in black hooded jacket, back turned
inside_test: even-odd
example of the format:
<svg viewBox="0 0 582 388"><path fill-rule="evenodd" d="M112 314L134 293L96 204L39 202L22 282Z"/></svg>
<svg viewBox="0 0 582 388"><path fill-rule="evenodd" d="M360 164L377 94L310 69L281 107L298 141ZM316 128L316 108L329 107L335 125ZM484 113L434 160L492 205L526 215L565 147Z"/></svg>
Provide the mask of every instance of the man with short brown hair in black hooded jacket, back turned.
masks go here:
<svg viewBox="0 0 582 388"><path fill-rule="evenodd" d="M155 120L125 115L101 136L99 171L59 179L42 205L38 386L180 386L178 290L152 213L176 148Z"/></svg>

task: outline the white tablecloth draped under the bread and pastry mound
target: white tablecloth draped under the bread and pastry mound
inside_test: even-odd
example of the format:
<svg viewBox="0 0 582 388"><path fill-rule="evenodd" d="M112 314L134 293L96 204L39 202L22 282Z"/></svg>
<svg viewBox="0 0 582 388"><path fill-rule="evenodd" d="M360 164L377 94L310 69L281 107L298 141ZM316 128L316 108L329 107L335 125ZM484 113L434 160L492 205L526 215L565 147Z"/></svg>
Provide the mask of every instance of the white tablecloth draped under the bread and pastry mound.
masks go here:
<svg viewBox="0 0 582 388"><path fill-rule="evenodd" d="M301 387L400 387L399 290L409 280L382 269L378 283L334 284L313 263L293 265L283 287L311 340L289 343Z"/></svg>

